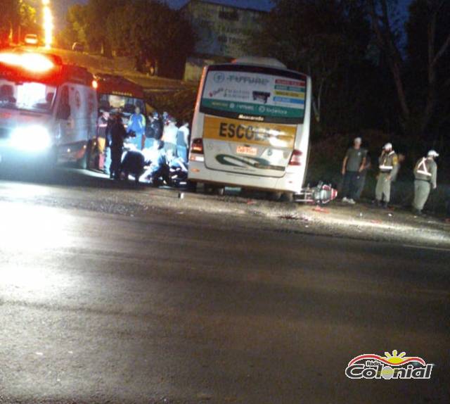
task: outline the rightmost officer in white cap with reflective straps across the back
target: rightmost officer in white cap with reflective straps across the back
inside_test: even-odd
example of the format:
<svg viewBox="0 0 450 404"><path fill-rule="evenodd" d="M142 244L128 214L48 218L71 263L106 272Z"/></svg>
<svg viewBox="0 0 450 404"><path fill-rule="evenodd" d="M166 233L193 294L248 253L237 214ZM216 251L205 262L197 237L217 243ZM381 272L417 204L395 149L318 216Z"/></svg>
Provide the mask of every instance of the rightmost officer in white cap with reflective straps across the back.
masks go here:
<svg viewBox="0 0 450 404"><path fill-rule="evenodd" d="M414 168L414 201L413 212L417 215L422 213L431 189L437 188L437 164L435 158L439 154L430 150L427 157L420 158Z"/></svg>

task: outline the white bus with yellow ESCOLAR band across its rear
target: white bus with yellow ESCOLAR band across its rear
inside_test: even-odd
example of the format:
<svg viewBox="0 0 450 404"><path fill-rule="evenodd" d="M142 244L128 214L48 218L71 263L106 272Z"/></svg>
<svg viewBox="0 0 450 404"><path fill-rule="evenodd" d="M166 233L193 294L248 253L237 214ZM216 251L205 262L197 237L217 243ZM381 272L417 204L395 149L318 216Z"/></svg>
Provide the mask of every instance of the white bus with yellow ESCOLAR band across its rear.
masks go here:
<svg viewBox="0 0 450 404"><path fill-rule="evenodd" d="M311 79L268 58L205 68L195 105L189 181L293 195L309 148Z"/></svg>

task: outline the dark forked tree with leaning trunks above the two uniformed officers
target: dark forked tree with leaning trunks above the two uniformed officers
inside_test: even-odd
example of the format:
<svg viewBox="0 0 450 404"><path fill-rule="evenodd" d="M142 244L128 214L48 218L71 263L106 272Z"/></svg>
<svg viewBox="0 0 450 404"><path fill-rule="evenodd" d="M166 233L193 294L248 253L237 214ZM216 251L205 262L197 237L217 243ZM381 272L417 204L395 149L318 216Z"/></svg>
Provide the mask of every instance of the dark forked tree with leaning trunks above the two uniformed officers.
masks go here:
<svg viewBox="0 0 450 404"><path fill-rule="evenodd" d="M417 75L410 74L410 80L407 80L408 60L399 46L399 36L392 24L392 2L368 0L376 43L387 60L397 89L401 126L416 140L429 129L439 104L439 87L445 85L449 77L447 73L439 80L439 68L450 47L449 6L446 0L413 1L406 25L408 51L409 61L419 63L413 68ZM420 77L421 69L425 69L425 80L418 83L414 76ZM418 87L425 92L421 99L414 96Z"/></svg>

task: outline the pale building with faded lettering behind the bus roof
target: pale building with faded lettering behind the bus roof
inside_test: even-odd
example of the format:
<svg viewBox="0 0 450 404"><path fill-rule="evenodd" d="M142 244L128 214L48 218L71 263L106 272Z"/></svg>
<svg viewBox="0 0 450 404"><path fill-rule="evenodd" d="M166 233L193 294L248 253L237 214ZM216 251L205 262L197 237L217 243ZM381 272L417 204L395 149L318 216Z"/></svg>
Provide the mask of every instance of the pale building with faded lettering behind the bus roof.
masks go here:
<svg viewBox="0 0 450 404"><path fill-rule="evenodd" d="M247 44L259 34L265 14L253 8L229 6L221 0L191 0L182 11L197 37L195 54L186 63L185 80L198 80L205 65L249 56Z"/></svg>

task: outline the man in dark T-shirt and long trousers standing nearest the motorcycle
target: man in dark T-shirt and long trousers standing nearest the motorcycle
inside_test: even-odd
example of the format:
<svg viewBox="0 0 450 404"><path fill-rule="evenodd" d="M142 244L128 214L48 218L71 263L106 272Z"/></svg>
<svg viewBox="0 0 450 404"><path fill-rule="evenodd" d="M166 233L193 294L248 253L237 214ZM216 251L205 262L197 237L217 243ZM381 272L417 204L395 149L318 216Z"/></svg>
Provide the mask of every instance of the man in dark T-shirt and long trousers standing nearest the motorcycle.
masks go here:
<svg viewBox="0 0 450 404"><path fill-rule="evenodd" d="M361 137L354 139L353 147L350 147L342 162L342 202L354 205L356 192L358 190L358 179L361 171L366 165L366 150L361 149Z"/></svg>

